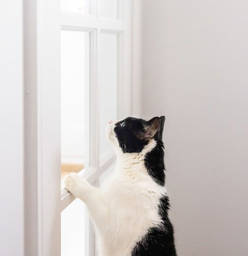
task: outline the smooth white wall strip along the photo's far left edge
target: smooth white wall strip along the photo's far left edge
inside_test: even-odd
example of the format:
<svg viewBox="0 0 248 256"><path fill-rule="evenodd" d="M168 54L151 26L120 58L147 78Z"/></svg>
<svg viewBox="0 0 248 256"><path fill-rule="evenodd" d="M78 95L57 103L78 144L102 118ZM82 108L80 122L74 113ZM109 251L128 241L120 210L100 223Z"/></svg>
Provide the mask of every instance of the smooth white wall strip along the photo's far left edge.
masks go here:
<svg viewBox="0 0 248 256"><path fill-rule="evenodd" d="M0 9L0 255L23 255L22 1Z"/></svg>

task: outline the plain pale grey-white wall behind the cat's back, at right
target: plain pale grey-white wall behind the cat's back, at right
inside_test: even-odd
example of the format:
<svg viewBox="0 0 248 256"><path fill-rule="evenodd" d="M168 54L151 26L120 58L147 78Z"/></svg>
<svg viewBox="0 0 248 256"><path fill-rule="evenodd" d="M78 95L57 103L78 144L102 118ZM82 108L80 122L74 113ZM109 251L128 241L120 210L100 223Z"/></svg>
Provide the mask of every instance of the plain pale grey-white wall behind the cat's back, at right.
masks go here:
<svg viewBox="0 0 248 256"><path fill-rule="evenodd" d="M246 0L143 0L143 115L166 116L179 255L247 255L247 10Z"/></svg>

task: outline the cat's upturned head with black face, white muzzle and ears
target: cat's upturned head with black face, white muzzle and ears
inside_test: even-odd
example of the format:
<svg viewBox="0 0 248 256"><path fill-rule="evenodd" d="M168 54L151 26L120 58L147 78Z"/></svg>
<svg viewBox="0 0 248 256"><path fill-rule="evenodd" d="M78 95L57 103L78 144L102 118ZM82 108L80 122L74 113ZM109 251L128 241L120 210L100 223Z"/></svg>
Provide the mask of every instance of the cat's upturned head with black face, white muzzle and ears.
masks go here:
<svg viewBox="0 0 248 256"><path fill-rule="evenodd" d="M123 153L139 153L146 145L162 140L164 121L164 116L148 121L134 117L111 121L107 126L107 137Z"/></svg>

